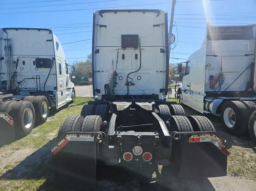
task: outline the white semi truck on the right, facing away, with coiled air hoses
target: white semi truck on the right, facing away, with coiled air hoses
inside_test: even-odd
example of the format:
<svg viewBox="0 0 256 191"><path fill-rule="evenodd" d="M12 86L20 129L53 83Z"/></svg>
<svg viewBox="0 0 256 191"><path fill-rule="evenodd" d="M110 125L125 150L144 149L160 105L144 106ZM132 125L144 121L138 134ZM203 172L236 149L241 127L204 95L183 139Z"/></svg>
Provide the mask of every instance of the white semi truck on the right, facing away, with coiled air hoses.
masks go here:
<svg viewBox="0 0 256 191"><path fill-rule="evenodd" d="M210 26L201 48L188 57L179 103L220 116L232 135L248 130L256 109L256 25ZM255 139L256 130L251 131ZM254 138L253 138L254 137Z"/></svg>

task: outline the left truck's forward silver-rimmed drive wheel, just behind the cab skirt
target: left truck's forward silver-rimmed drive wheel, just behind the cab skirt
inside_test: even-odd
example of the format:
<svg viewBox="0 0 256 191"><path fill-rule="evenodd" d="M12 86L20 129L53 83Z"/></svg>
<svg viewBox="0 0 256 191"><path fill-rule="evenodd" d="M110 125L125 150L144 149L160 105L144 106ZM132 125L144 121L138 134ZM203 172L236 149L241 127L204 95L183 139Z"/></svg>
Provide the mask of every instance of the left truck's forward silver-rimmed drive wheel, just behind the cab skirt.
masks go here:
<svg viewBox="0 0 256 191"><path fill-rule="evenodd" d="M39 125L45 123L49 115L49 103L47 98L44 95L39 95L35 97L32 103L36 112L36 123Z"/></svg>

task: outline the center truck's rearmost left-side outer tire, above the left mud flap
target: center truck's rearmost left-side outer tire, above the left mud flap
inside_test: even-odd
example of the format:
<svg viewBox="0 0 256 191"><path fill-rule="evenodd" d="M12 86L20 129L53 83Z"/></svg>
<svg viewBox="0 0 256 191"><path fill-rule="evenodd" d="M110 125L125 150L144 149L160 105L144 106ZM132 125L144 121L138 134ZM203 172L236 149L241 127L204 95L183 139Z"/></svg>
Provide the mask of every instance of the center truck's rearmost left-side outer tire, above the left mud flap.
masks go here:
<svg viewBox="0 0 256 191"><path fill-rule="evenodd" d="M66 132L79 132L83 124L83 116L68 116L60 125L58 137L64 135Z"/></svg>

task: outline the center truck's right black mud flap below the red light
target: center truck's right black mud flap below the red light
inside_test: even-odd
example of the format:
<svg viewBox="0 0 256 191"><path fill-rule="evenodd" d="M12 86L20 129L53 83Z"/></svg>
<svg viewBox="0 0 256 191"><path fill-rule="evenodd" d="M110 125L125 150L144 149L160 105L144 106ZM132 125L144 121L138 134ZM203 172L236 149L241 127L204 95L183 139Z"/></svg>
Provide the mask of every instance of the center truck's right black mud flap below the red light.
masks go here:
<svg viewBox="0 0 256 191"><path fill-rule="evenodd" d="M190 137L182 134L181 139L173 140L171 165L176 167L174 174L194 178L226 176L229 151L225 150L228 153L224 154L220 149L223 145L218 145L215 139L212 142L189 142Z"/></svg>

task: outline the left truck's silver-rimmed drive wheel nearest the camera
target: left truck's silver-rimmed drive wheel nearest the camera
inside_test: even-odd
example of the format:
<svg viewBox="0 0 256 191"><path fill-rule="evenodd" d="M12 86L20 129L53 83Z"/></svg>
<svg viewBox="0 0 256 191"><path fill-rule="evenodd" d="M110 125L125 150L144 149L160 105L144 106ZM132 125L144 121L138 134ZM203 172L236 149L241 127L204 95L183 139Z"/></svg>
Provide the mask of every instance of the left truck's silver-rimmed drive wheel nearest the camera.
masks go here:
<svg viewBox="0 0 256 191"><path fill-rule="evenodd" d="M29 101L19 101L10 112L17 136L27 136L35 125L35 109Z"/></svg>

